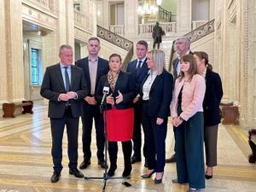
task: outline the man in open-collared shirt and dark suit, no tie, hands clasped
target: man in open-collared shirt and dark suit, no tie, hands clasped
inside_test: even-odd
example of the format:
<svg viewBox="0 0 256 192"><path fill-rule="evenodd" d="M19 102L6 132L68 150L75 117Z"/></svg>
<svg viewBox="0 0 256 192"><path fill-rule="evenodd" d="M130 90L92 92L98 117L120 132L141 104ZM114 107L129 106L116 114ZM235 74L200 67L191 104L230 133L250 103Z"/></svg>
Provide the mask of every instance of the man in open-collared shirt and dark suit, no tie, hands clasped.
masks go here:
<svg viewBox="0 0 256 192"><path fill-rule="evenodd" d="M90 38L87 44L89 56L76 62L76 66L81 67L84 71L84 77L89 89L89 96L84 97L82 103L82 122L83 122L83 152L84 160L80 164L80 169L85 169L90 165L90 143L91 143L91 130L93 119L96 128L96 145L97 145L97 158L98 165L105 168L104 162L104 122L103 116L100 112L100 104L96 102L95 92L96 87L101 77L108 73L108 61L98 56L101 49L100 40L98 38Z"/></svg>

